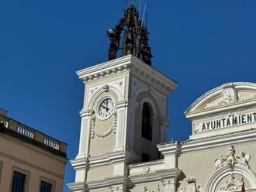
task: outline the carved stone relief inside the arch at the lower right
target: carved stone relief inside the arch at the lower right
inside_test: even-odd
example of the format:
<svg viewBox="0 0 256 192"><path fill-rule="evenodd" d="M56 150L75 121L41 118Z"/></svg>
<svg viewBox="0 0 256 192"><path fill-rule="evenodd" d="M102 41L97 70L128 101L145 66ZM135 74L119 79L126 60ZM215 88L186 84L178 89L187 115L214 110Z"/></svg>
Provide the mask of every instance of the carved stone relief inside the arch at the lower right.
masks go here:
<svg viewBox="0 0 256 192"><path fill-rule="evenodd" d="M238 179L234 177L234 174L230 174L229 180L223 180L223 183L220 185L220 189L218 192L226 192L226 191L240 191L243 186L243 179Z"/></svg>

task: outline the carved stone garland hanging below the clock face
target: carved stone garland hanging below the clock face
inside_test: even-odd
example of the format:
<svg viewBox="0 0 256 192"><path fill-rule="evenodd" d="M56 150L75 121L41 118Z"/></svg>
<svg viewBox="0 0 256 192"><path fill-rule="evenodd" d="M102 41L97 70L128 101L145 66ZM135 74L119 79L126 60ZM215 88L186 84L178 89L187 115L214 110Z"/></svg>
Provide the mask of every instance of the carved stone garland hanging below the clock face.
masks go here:
<svg viewBox="0 0 256 192"><path fill-rule="evenodd" d="M106 137L107 135L109 135L111 132L113 132L114 134L116 134L116 119L117 119L117 112L115 111L113 113L114 115L114 120L112 122L111 127L109 128L108 131L106 132L97 132L96 128L95 128L95 121L96 121L96 115L95 115L95 111L92 111L92 131L91 131L91 138L94 139L95 135L101 138Z"/></svg>

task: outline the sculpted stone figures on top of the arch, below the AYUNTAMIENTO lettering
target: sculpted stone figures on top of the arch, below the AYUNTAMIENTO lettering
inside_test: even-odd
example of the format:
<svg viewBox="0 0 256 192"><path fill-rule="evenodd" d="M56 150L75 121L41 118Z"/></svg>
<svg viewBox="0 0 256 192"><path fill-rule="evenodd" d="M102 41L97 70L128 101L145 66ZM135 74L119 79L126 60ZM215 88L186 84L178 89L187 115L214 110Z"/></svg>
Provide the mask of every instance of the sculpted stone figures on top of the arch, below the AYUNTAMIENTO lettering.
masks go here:
<svg viewBox="0 0 256 192"><path fill-rule="evenodd" d="M244 153L244 152L242 152L240 156L237 156L235 153L236 151L234 149L234 146L230 145L228 149L228 155L220 156L218 159L214 161L216 170L223 166L226 166L227 169L234 169L234 166L236 164L245 166L248 169L250 169L249 160L251 156L248 153Z"/></svg>

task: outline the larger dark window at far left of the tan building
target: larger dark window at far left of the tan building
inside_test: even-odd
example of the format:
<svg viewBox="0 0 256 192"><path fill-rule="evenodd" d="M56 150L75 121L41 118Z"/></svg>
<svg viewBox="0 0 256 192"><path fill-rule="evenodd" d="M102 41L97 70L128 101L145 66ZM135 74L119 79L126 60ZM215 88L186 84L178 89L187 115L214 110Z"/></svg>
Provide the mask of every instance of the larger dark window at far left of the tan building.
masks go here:
<svg viewBox="0 0 256 192"><path fill-rule="evenodd" d="M12 174L11 192L23 192L25 190L26 174L14 171Z"/></svg>

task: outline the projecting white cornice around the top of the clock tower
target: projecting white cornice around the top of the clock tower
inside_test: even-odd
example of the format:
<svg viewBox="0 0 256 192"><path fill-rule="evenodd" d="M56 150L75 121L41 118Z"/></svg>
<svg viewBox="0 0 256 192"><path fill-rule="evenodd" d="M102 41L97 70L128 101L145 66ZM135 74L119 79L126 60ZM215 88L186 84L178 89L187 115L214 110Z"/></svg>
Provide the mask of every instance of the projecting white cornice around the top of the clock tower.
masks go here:
<svg viewBox="0 0 256 192"><path fill-rule="evenodd" d="M120 57L116 60L110 60L106 63L100 63L83 70L78 70L77 74L79 79L86 84L88 81L95 81L102 77L118 74L123 71L130 71L136 74L137 77L161 89L165 94L168 94L170 91L174 90L175 87L178 87L175 81L161 74L158 70L155 70L133 55Z"/></svg>

